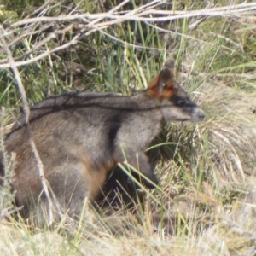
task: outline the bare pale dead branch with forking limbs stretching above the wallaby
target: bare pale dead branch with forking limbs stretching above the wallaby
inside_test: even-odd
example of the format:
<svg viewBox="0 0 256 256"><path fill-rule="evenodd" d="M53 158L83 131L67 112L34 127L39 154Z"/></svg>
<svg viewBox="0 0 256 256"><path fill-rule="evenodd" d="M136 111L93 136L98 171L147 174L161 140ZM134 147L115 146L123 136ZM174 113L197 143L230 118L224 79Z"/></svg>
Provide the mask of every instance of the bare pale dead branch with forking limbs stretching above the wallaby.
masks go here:
<svg viewBox="0 0 256 256"><path fill-rule="evenodd" d="M81 40L84 37L87 37L93 32L102 32L102 34L117 41L119 39L115 38L113 35L110 35L108 32L105 32L104 30L109 26L113 26L114 24L124 22L127 20L140 20L146 22L150 26L154 26L154 24L158 21L198 17L199 20L197 20L193 24L190 24L189 26L189 29L195 29L195 27L197 27L201 22L211 18L212 16L236 18L244 17L247 20L256 19L256 3L240 3L218 8L207 7L206 9L199 9L193 11L172 11L155 9L160 4L160 1L154 0L151 3L147 3L131 11L119 11L119 9L123 7L127 2L129 1L123 1L118 6L108 11L108 13L79 14L74 13L74 10L72 10L68 15L59 15L57 17L40 16L36 18L26 18L24 20L15 22L15 24L11 25L6 30L6 32L4 32L4 36L10 37L10 43L8 44L9 47L17 44L23 38L30 37L33 34L37 34L37 32L38 34L43 34L43 32L48 29L51 29L51 31L54 32L50 32L48 36L46 36L46 38L44 38L43 40L39 40L38 42L35 42L32 48L23 53L23 55L21 55L20 57L16 57L15 63L13 63L13 65L15 65L15 67L20 67L31 64L36 61L40 61L48 55L52 55L57 51L67 49L71 45L77 44L79 40ZM244 13L246 14L244 15ZM40 13L40 15L42 15L42 13ZM72 24L70 24L71 21L73 22ZM38 29L38 25L41 26L40 29ZM15 34L15 31L19 26L25 26L24 28L22 28L23 32L19 36L12 38L13 34ZM60 27L61 29L59 29ZM154 26L154 28L160 31L162 30L158 26ZM58 47L55 47L54 49L47 49L47 47L44 47L46 43L50 42L51 40L57 40L58 38L60 38L60 36L64 36L67 32L73 32L73 38L71 38L71 40L66 44L62 44ZM175 33L178 34L178 32ZM129 45L129 43L124 41L121 41L121 43ZM139 45L133 44L132 47L140 48ZM27 58L29 58L29 60L26 60ZM0 61L0 68L9 67L9 59L4 59Z"/></svg>

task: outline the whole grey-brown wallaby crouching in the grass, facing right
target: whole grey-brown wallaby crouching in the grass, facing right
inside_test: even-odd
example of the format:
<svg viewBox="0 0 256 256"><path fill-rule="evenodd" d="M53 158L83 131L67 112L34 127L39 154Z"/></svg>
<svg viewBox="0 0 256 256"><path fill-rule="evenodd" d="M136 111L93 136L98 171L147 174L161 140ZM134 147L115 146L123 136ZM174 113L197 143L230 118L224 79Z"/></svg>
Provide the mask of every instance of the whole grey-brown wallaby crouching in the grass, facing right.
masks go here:
<svg viewBox="0 0 256 256"><path fill-rule="evenodd" d="M173 80L173 67L173 61L166 61L148 89L134 96L67 93L50 96L31 108L29 127L45 177L69 215L79 215L85 197L96 198L108 172L118 163L128 162L158 183L144 151L164 121L195 123L204 118ZM5 141L6 151L16 154L13 188L16 204L24 209L31 201L35 206L46 201L27 129L23 115ZM3 165L0 174L4 175ZM143 183L154 187L147 180Z"/></svg>

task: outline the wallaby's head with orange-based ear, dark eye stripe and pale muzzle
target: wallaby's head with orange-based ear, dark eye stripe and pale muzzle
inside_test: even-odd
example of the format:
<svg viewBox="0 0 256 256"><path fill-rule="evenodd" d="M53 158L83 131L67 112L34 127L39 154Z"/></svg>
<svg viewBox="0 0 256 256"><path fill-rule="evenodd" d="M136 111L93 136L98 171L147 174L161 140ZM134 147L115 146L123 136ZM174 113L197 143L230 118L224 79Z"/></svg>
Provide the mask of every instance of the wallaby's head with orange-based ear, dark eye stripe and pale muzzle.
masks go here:
<svg viewBox="0 0 256 256"><path fill-rule="evenodd" d="M192 102L180 84L173 80L174 61L166 61L159 75L148 86L148 94L160 100L166 120L199 122L205 114Z"/></svg>

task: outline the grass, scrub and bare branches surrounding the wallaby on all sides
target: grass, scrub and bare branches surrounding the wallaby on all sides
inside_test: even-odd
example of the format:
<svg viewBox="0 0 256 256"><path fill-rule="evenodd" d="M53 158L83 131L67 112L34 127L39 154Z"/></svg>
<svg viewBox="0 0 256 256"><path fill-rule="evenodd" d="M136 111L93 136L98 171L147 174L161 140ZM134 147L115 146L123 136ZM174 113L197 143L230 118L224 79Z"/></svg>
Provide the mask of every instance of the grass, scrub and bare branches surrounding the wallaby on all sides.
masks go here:
<svg viewBox="0 0 256 256"><path fill-rule="evenodd" d="M2 151L25 106L3 38L29 105L73 90L131 95L172 57L177 80L207 114L199 125L166 125L148 148L160 189L144 192L143 204L85 209L88 224L63 218L44 229L8 216L1 255L256 254L256 3L143 3L0 0ZM0 217L15 211L13 159L6 165Z"/></svg>

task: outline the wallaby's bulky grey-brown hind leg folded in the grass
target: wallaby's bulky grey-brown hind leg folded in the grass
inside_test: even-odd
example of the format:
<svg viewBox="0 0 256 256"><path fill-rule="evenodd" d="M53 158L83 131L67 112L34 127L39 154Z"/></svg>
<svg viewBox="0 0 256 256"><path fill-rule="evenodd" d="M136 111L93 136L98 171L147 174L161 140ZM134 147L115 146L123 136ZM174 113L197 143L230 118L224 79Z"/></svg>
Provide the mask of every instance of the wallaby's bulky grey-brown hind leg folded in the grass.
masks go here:
<svg viewBox="0 0 256 256"><path fill-rule="evenodd" d="M46 179L62 213L67 212L69 216L79 218L86 197L94 200L105 180L105 174L98 170L93 171L80 159L68 157L67 161L55 168L55 172L47 172ZM29 196L27 195L28 198ZM58 211L55 203L54 201L54 208ZM29 207L34 207L37 215L40 215L42 209L47 213L48 202L44 193L40 195L38 202Z"/></svg>

